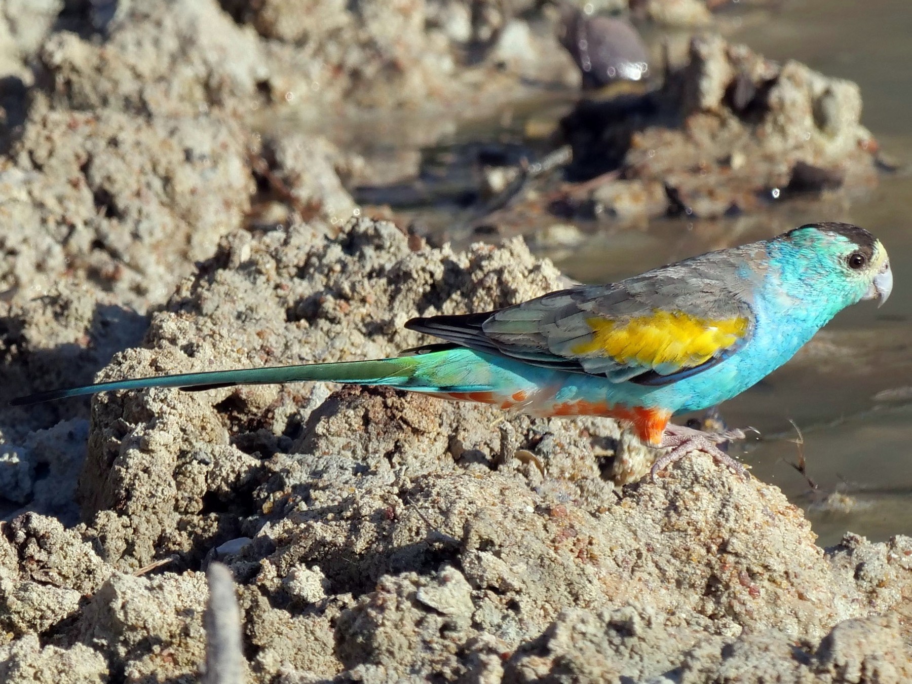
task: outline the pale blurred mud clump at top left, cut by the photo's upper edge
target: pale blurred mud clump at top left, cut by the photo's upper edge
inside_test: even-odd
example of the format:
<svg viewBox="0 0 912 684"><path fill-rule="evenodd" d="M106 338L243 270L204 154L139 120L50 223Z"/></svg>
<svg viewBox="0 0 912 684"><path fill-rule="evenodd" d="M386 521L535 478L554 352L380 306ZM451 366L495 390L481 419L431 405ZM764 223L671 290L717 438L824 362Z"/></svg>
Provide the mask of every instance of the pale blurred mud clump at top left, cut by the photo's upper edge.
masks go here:
<svg viewBox="0 0 912 684"><path fill-rule="evenodd" d="M38 85L53 106L175 116L258 100L262 47L214 0L122 5L103 42L60 31L44 43Z"/></svg>

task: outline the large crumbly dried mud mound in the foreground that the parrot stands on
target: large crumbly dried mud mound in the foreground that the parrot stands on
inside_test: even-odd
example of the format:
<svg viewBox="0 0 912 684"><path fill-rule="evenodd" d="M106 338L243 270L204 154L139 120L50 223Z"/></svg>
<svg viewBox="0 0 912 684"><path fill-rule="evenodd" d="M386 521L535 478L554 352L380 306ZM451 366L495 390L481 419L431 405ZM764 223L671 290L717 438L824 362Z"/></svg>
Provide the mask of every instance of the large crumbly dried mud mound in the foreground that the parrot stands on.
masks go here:
<svg viewBox="0 0 912 684"><path fill-rule="evenodd" d="M233 233L103 376L385 356L424 341L409 316L559 283L519 241ZM0 672L195 676L219 559L254 682L907 678L912 540L824 552L776 487L707 456L619 490L617 454L648 464L631 449L610 420L390 389L101 395L85 522L0 529Z"/></svg>

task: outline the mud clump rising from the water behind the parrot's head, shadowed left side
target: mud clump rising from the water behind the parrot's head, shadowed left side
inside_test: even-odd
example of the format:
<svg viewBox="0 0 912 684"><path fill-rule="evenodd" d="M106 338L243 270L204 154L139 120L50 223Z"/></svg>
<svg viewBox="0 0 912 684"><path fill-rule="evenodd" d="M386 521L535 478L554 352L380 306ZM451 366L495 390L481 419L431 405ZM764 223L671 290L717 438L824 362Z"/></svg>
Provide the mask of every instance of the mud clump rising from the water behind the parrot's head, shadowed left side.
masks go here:
<svg viewBox="0 0 912 684"><path fill-rule="evenodd" d="M705 36L660 92L584 103L563 126L577 172L619 172L592 192L596 211L714 218L874 185L861 109L851 81Z"/></svg>

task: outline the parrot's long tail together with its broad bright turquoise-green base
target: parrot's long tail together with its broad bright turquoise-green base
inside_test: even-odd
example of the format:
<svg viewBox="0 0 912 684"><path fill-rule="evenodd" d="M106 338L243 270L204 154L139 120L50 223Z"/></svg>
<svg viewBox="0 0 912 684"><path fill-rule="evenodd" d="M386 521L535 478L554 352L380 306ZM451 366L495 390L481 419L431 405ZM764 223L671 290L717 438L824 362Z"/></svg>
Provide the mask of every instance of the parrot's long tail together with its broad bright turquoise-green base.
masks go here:
<svg viewBox="0 0 912 684"><path fill-rule="evenodd" d="M17 397L11 406L27 406L41 401L67 399L119 389L173 387L190 391L230 387L232 385L269 385L281 382L316 380L357 385L389 385L419 392L487 391L492 389L490 357L464 347L433 351L415 356L378 358L370 361L341 361L302 366L213 370L206 373L182 373L158 378L130 378L99 382L95 385Z"/></svg>

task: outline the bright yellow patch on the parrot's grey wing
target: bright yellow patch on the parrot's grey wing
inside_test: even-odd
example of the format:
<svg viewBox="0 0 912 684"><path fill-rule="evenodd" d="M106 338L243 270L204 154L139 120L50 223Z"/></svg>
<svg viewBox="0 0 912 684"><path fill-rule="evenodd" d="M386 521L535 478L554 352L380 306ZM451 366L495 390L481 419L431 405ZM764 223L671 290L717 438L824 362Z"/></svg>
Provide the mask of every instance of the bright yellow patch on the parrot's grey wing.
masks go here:
<svg viewBox="0 0 912 684"><path fill-rule="evenodd" d="M601 316L586 318L586 325L592 328L592 339L573 347L574 354L604 354L618 363L632 361L650 368L699 366L748 331L748 320L742 316L711 320L658 309L623 325Z"/></svg>

